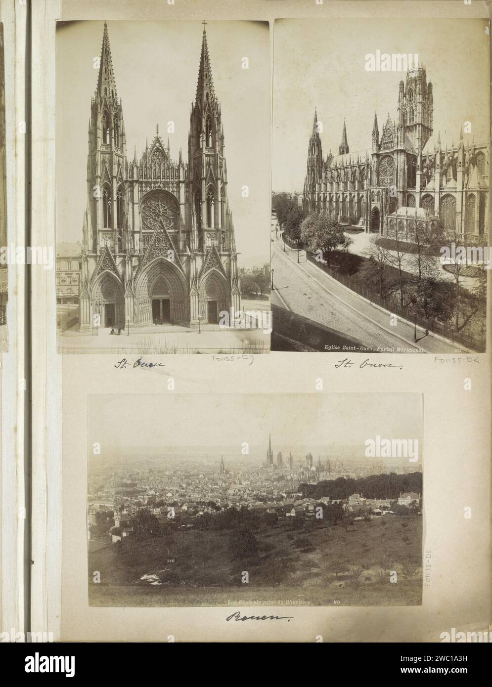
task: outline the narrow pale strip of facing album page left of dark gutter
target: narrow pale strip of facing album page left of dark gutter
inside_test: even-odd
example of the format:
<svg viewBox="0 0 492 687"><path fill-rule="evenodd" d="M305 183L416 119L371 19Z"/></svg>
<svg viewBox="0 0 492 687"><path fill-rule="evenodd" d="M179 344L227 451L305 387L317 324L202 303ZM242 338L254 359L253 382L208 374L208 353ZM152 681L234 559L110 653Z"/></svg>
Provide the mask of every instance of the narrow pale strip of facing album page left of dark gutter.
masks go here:
<svg viewBox="0 0 492 687"><path fill-rule="evenodd" d="M26 12L13 0L0 3L0 631L9 641L23 641L29 602L25 284L40 267L25 234Z"/></svg>

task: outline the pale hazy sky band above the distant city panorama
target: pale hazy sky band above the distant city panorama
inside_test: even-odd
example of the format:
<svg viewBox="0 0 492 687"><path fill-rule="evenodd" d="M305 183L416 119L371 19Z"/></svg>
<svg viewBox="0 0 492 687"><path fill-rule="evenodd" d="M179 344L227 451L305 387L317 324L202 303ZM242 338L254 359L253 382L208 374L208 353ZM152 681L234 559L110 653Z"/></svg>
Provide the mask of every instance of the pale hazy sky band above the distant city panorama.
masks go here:
<svg viewBox="0 0 492 687"><path fill-rule="evenodd" d="M101 458L120 449L162 447L266 449L384 438L421 438L421 394L98 394L89 396L89 447ZM260 457L263 457L260 455Z"/></svg>

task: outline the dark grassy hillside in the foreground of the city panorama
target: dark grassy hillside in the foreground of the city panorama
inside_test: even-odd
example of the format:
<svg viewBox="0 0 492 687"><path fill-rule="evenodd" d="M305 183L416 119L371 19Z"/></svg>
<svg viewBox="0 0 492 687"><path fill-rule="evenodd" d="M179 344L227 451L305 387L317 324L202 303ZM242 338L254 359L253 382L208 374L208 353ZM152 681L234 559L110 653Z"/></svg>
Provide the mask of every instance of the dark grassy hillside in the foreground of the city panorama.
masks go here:
<svg viewBox="0 0 492 687"><path fill-rule="evenodd" d="M234 600L418 605L421 565L422 519L416 515L387 515L347 528L309 521L293 530L282 521L254 532L175 530L89 552L89 600L100 606L227 606ZM100 583L93 583L95 570ZM243 571L248 583L241 582ZM155 577L141 581L143 575Z"/></svg>

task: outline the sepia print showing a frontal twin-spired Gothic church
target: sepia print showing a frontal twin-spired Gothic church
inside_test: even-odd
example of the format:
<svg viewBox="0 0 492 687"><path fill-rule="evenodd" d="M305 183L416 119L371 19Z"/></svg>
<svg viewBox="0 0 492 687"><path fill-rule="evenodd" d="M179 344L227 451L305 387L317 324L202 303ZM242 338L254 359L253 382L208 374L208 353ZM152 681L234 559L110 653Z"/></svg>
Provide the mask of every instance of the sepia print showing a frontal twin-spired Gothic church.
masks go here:
<svg viewBox="0 0 492 687"><path fill-rule="evenodd" d="M57 23L59 352L269 352L269 73L267 22Z"/></svg>

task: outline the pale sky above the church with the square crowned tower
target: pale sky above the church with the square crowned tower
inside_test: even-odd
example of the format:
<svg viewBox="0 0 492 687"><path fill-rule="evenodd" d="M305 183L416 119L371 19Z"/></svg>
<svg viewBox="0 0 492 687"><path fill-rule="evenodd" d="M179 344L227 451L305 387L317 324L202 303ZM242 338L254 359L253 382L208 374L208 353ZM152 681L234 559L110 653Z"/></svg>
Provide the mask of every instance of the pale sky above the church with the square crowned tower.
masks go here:
<svg viewBox="0 0 492 687"><path fill-rule="evenodd" d="M350 153L372 147L396 119L399 72L368 72L368 53L418 54L434 90L434 138L443 147L470 121L476 142L489 132L489 39L482 19L282 19L273 52L272 189L302 191L317 106L323 155L338 154L344 117ZM465 137L466 139L466 137Z"/></svg>

